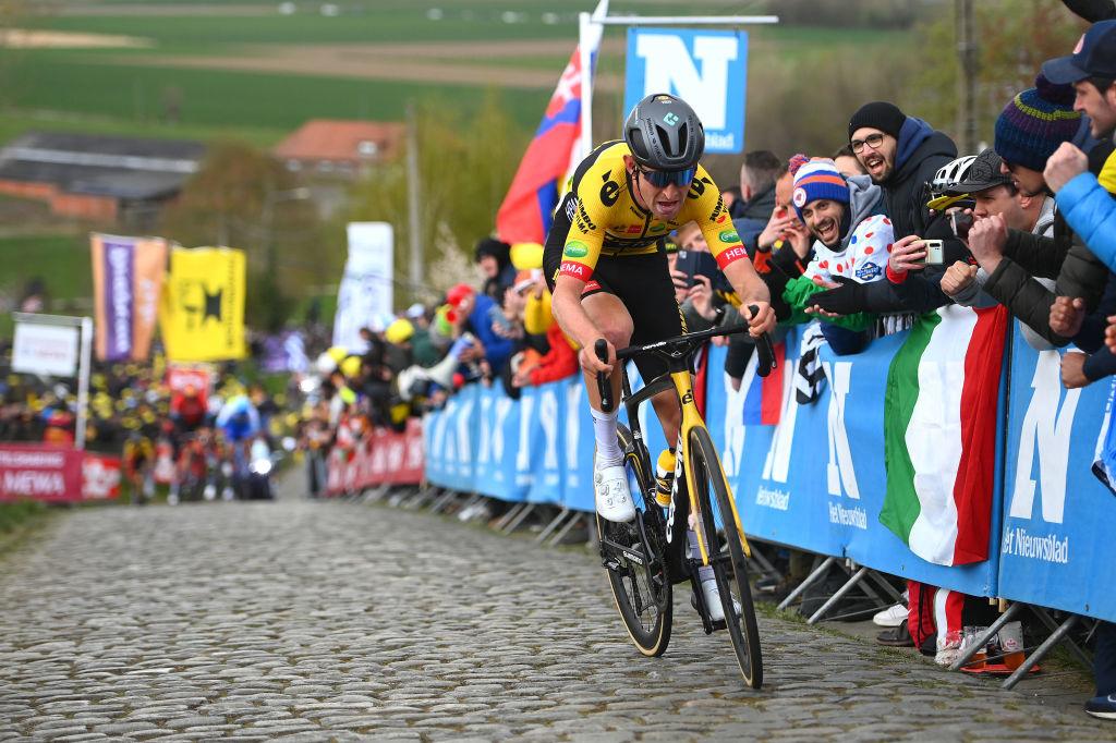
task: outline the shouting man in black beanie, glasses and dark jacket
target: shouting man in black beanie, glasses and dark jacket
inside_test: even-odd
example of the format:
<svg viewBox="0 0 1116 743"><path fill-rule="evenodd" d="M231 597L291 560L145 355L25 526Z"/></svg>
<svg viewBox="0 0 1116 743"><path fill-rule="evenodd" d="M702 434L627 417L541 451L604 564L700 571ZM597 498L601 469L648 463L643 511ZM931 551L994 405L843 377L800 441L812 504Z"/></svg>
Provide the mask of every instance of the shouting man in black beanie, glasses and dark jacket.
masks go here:
<svg viewBox="0 0 1116 743"><path fill-rule="evenodd" d="M873 183L883 189L884 211L899 244L915 238L937 238L945 243L946 264L964 258L964 245L954 238L949 221L926 206L926 184L937 168L958 156L945 134L894 104L876 100L860 106L848 123L849 147ZM812 300L827 312L924 312L947 303L939 286L943 269L931 267L902 284L859 284L838 277L840 286Z"/></svg>

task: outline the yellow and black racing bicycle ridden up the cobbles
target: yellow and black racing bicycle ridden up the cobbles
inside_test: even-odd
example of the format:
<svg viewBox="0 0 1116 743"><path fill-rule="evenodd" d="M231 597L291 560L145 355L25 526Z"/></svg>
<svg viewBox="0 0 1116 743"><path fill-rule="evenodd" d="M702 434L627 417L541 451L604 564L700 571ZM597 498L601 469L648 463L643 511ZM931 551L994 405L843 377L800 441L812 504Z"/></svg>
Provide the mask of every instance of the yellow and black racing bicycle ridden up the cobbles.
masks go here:
<svg viewBox="0 0 1116 743"><path fill-rule="evenodd" d="M654 657L666 652L673 621L673 585L689 580L692 602L705 634L728 629L744 683L760 688L763 660L745 563L751 550L713 440L694 403L691 374L693 357L708 339L747 331L745 325L713 328L616 351L617 363L641 355L657 356L666 361L667 370L632 392L627 370L622 365L622 402L628 425L618 425L617 436L636 504L636 518L628 523L615 523L597 515L597 528L600 559L608 573L616 608L641 653ZM775 355L766 334L756 340L756 348L759 354L757 373L767 376L775 367ZM597 341L594 350L607 363L608 347L604 339ZM607 376L598 375L597 384L602 409L610 412L614 402ZM671 504L664 514L655 501L655 471L639 427L638 408L666 389L677 395L682 424ZM698 535L700 558L690 556L687 525ZM723 620L713 621L709 617L698 573L703 566L713 568Z"/></svg>

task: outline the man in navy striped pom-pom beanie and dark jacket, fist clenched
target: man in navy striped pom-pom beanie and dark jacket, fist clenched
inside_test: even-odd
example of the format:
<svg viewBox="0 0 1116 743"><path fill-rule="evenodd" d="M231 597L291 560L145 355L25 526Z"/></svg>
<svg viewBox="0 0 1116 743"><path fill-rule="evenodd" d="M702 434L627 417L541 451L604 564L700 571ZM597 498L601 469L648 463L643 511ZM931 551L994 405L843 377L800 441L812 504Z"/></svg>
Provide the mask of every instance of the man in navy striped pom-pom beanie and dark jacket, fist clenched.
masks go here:
<svg viewBox="0 0 1116 743"><path fill-rule="evenodd" d="M1024 196L1050 193L1042 173L1046 162L1074 138L1080 124L1071 87L1055 85L1042 75L1035 83L1004 106L993 145ZM1074 235L1060 212L1052 238L1009 230L1001 215L979 219L969 232L969 249L989 274L984 291L1055 346L1070 341L1050 327L1055 298L1081 298L1091 311L1107 283L1104 266ZM1036 278L1057 279L1055 290Z"/></svg>

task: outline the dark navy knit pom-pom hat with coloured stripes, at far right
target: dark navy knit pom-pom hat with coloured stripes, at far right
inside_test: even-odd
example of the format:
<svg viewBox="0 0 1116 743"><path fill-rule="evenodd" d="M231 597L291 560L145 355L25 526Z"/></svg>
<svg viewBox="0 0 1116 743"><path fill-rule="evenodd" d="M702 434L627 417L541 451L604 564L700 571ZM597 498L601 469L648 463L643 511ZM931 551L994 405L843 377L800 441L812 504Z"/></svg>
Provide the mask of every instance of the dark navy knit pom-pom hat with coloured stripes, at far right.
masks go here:
<svg viewBox="0 0 1116 743"><path fill-rule="evenodd" d="M1006 163L1042 172L1046 161L1081 125L1074 110L1074 87L1055 85L1042 75L1008 102L995 119L994 149Z"/></svg>

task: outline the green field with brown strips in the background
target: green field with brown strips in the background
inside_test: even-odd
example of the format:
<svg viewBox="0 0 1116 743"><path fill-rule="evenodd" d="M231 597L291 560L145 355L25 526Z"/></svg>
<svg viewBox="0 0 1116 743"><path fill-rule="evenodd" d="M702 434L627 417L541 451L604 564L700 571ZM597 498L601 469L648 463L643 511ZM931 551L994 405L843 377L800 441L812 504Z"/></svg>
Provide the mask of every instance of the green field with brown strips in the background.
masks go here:
<svg viewBox="0 0 1116 743"><path fill-rule="evenodd" d="M83 3L84 4L84 3ZM453 59L434 49L424 49L416 61L458 62L491 68L552 71L554 80L569 52L554 49L538 55L493 57L483 54L484 41L562 40L569 50L576 45L576 13L596 3L580 0L556 6L549 0L487 0L480 2L443 0L415 4L402 0L347 0L336 2L337 17L324 17L317 6L298 3L298 12L282 16L277 2L235 2L248 8L240 16L209 12L220 3L180 1L90 3L105 8L105 15L29 15L17 19L20 28L123 35L151 41L143 49L9 49L0 50L0 134L26 128L50 115L64 116L92 131L112 129L121 134L152 136L240 136L268 145L278 142L309 118L402 119L410 100L436 100L455 110L468 112L483 98L485 84L445 84L436 79L392 81L330 75L328 68L312 73L230 70L147 64L147 59L244 59L268 49L297 54L299 45L368 45L420 42L477 42L475 56ZM137 6L173 4L183 9L175 16L136 15ZM743 2L699 1L686 6L690 15L748 12ZM65 10L66 3L57 6ZM427 18L437 7L439 20ZM662 2L615 1L613 12L662 15L675 11ZM517 22L506 22L504 13L519 13ZM554 13L556 22L543 22L543 13ZM901 45L904 32L875 29L845 29L834 32L820 28L753 27L750 29L753 64L764 58L788 62L817 54L819 49L849 50L882 45ZM609 28L606 38L622 39L623 30ZM412 58L398 60L405 67ZM600 70L623 74L623 58L609 52L602 58ZM533 129L552 85L508 89L503 102L509 115L525 131ZM181 100L175 125L164 120L165 100ZM12 126L7 126L12 124ZM52 127L60 128L60 127Z"/></svg>

